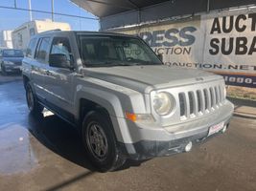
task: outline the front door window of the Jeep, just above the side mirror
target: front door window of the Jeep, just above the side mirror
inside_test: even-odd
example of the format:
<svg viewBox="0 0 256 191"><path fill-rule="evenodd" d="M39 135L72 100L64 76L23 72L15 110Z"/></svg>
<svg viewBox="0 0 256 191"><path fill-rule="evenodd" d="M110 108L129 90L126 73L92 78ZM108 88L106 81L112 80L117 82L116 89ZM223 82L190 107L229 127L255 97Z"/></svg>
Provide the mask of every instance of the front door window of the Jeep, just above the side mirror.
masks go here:
<svg viewBox="0 0 256 191"><path fill-rule="evenodd" d="M53 40L51 54L64 54L70 60L71 48L68 38L56 37Z"/></svg>

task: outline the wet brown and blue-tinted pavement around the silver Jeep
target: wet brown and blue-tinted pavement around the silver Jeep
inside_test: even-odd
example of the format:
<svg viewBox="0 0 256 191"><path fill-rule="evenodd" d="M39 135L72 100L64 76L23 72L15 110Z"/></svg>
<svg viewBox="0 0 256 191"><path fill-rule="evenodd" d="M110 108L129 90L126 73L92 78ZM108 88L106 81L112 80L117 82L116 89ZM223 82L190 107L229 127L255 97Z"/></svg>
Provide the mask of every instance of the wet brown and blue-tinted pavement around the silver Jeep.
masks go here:
<svg viewBox="0 0 256 191"><path fill-rule="evenodd" d="M73 127L28 113L21 80L1 83L0 190L255 191L256 120L234 117L226 134L190 153L102 174L88 163Z"/></svg>

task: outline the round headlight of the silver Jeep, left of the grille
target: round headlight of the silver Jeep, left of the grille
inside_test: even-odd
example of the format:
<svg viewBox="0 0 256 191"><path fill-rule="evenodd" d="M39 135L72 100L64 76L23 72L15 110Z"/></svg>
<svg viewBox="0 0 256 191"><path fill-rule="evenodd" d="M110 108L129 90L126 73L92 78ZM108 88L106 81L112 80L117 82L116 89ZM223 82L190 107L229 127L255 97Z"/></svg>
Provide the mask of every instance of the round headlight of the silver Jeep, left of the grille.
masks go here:
<svg viewBox="0 0 256 191"><path fill-rule="evenodd" d="M153 109L160 116L168 115L174 107L172 101L173 99L168 93L158 93L153 96Z"/></svg>

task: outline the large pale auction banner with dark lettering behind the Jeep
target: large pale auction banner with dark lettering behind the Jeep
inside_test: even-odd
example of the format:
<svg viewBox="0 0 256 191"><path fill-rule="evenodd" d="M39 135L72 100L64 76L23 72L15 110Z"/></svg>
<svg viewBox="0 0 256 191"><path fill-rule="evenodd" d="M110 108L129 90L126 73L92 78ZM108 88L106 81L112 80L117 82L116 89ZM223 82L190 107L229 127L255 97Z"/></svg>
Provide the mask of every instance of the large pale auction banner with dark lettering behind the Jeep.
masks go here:
<svg viewBox="0 0 256 191"><path fill-rule="evenodd" d="M256 88L256 9L121 32L139 35L163 54L166 65L210 71L223 75L228 85Z"/></svg>

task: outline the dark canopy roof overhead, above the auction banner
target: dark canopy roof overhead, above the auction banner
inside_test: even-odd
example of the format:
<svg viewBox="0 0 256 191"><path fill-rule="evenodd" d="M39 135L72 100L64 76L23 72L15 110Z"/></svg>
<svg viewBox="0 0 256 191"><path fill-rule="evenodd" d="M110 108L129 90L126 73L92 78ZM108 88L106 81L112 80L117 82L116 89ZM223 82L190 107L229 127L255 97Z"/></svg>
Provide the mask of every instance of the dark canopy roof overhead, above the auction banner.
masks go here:
<svg viewBox="0 0 256 191"><path fill-rule="evenodd" d="M255 0L70 0L100 18L101 31L200 12L248 7ZM193 3L192 3L193 2Z"/></svg>

